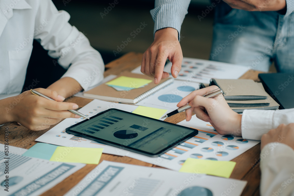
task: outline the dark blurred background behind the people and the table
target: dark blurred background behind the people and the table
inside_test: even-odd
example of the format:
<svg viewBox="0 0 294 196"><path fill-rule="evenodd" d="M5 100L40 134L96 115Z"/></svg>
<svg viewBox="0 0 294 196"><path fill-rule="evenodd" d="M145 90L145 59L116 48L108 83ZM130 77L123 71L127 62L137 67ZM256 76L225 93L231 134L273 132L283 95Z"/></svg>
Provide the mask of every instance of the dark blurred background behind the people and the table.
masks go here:
<svg viewBox="0 0 294 196"><path fill-rule="evenodd" d="M154 8L154 1L118 0L118 4L108 13L105 12L107 14L102 18L100 13L104 14L113 1L53 0L58 10L65 10L71 15L69 23L86 35L91 46L101 53L105 64L131 51L144 53L153 42L154 22L150 10ZM181 29L181 47L185 57L209 59L213 10L203 20L198 19L198 15L207 9L207 5L209 2L203 4L192 1L189 6ZM130 33L141 22L145 22L147 26L132 38ZM119 54L114 55L113 50L117 50L117 46L127 38L132 41ZM50 58L38 42L34 41L33 46L24 89L32 84L33 79L40 81L34 88L46 88L66 70L56 64L57 59Z"/></svg>

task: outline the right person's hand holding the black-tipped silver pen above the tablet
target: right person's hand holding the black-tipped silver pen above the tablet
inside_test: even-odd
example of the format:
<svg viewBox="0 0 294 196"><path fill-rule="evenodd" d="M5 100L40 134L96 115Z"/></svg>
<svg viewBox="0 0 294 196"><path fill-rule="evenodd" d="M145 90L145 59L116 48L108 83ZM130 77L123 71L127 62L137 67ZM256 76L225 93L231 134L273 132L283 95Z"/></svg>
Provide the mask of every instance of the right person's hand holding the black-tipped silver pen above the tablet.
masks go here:
<svg viewBox="0 0 294 196"><path fill-rule="evenodd" d="M191 108L186 110L187 121L191 120L193 111L197 118L211 123L218 133L241 136L242 115L230 109L223 95L214 98L203 97L204 94L217 88L217 86L209 86L193 91L184 97L177 106L181 107L189 103Z"/></svg>

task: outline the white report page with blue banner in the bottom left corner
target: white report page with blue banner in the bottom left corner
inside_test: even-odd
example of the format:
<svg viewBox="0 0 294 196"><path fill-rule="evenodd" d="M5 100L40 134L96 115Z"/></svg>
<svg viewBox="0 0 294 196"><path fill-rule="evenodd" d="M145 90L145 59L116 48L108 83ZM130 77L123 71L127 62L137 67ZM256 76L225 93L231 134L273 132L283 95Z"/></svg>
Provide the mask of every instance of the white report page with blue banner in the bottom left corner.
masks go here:
<svg viewBox="0 0 294 196"><path fill-rule="evenodd" d="M59 163L25 157L12 153L23 153L21 148L16 148L9 146L8 156L4 154L4 147L0 150L0 195L41 195L85 166L81 163ZM9 192L5 191L6 179Z"/></svg>

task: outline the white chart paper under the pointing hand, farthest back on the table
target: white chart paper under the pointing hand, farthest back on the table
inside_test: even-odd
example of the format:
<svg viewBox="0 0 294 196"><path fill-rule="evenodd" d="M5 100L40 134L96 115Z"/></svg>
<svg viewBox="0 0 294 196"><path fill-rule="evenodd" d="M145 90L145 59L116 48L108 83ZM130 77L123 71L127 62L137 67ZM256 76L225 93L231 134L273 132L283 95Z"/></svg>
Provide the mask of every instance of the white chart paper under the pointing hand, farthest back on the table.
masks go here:
<svg viewBox="0 0 294 196"><path fill-rule="evenodd" d="M164 71L169 73L170 77L172 77L171 66L171 62L164 66ZM176 79L210 83L211 78L238 79L248 70L249 68L246 66L184 57L181 71ZM141 66L134 69L132 73L141 73Z"/></svg>

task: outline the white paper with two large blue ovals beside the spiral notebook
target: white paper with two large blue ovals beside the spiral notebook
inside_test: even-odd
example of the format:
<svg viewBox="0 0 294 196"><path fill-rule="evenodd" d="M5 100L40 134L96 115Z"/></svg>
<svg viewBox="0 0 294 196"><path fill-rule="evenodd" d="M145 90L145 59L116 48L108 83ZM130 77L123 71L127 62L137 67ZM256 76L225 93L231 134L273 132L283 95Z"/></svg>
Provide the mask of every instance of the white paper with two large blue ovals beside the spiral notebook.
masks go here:
<svg viewBox="0 0 294 196"><path fill-rule="evenodd" d="M175 80L170 85L153 93L147 98L136 103L147 107L158 108L164 107L166 109L178 109L177 104L192 91L199 88L199 83Z"/></svg>

